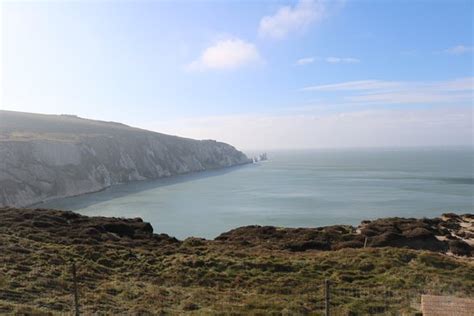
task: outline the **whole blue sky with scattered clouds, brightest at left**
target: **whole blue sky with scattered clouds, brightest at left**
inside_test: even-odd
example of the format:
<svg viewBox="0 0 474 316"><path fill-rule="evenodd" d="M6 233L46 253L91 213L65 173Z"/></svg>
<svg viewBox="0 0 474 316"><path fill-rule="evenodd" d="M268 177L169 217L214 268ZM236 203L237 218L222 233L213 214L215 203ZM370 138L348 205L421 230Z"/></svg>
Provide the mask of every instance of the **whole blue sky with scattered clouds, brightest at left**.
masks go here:
<svg viewBox="0 0 474 316"><path fill-rule="evenodd" d="M472 1L0 3L0 109L240 149L474 145Z"/></svg>

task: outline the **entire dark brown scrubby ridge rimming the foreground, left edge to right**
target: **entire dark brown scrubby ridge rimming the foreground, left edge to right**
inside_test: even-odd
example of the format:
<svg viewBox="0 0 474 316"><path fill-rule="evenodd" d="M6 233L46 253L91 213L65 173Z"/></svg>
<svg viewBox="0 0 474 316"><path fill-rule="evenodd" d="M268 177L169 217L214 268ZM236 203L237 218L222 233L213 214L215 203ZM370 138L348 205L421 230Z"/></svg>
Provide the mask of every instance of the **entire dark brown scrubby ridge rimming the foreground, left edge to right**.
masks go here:
<svg viewBox="0 0 474 316"><path fill-rule="evenodd" d="M120 244L157 250L166 247L225 246L228 249L304 252L346 248L410 248L474 255L474 215L444 214L440 218L382 218L358 227L335 225L316 228L245 226L215 240L190 237L179 241L154 234L141 218L88 217L70 211L0 208L0 232L15 232L33 240L71 244Z"/></svg>

